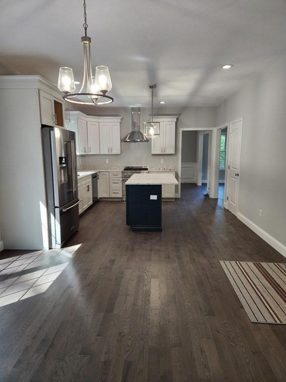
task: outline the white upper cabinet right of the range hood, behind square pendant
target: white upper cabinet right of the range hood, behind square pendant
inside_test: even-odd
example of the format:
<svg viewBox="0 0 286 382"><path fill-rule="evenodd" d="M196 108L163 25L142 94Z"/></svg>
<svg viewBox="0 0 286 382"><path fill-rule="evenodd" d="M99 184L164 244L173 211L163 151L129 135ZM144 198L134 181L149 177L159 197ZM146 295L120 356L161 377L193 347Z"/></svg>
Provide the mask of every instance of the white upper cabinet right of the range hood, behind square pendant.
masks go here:
<svg viewBox="0 0 286 382"><path fill-rule="evenodd" d="M152 139L152 154L175 154L176 119L173 116L156 116L154 122L160 123L160 136Z"/></svg>

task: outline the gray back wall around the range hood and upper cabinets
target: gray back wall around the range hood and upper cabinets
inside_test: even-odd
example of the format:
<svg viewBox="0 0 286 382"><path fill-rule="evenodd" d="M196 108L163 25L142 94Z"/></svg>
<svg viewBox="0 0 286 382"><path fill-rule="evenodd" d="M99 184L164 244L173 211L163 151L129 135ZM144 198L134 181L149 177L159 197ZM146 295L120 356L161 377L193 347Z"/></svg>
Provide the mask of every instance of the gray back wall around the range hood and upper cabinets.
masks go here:
<svg viewBox="0 0 286 382"><path fill-rule="evenodd" d="M121 137L124 137L131 130L131 110L128 107L94 107L73 105L74 110L82 111L87 115L97 116L122 116ZM78 107L77 107L78 106ZM149 120L149 108L142 108L141 121ZM174 155L151 155L151 141L147 143L126 143L121 144L121 155L82 155L79 164L94 165L105 164L105 159L109 164L118 166L126 165L175 165L178 171L179 164L179 129L183 127L206 127L215 126L216 107L157 107L154 108L154 115L179 115L176 127L176 151ZM164 160L164 164L160 160Z"/></svg>

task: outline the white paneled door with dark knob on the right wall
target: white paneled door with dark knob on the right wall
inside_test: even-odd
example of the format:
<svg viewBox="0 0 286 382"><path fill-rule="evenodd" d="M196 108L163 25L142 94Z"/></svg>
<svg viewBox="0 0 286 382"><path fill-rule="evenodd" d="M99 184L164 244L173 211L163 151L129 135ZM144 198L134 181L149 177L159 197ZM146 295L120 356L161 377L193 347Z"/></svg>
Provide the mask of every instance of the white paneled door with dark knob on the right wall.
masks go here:
<svg viewBox="0 0 286 382"><path fill-rule="evenodd" d="M242 119L230 122L229 134L229 156L228 156L228 176L227 176L227 208L234 215L237 215L239 170L242 139Z"/></svg>

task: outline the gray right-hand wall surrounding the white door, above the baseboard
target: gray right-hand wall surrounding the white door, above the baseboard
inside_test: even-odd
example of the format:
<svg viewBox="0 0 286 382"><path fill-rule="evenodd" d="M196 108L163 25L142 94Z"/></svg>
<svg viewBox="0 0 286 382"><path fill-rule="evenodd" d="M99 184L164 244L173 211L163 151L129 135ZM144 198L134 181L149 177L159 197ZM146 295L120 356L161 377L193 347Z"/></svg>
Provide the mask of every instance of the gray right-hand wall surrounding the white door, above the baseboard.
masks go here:
<svg viewBox="0 0 286 382"><path fill-rule="evenodd" d="M216 125L243 116L238 210L286 245L286 60L217 109ZM262 217L259 217L259 209Z"/></svg>

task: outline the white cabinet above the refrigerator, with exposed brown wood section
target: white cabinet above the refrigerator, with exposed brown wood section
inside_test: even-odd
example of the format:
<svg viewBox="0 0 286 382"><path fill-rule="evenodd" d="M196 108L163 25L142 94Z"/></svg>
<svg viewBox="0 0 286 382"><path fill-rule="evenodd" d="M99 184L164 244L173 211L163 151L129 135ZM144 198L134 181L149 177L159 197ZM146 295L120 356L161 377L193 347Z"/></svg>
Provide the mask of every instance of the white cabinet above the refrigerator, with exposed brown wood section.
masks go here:
<svg viewBox="0 0 286 382"><path fill-rule="evenodd" d="M42 125L64 127L63 102L42 90L39 94Z"/></svg>

